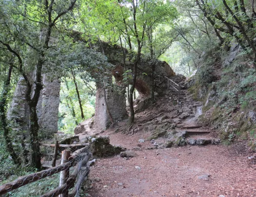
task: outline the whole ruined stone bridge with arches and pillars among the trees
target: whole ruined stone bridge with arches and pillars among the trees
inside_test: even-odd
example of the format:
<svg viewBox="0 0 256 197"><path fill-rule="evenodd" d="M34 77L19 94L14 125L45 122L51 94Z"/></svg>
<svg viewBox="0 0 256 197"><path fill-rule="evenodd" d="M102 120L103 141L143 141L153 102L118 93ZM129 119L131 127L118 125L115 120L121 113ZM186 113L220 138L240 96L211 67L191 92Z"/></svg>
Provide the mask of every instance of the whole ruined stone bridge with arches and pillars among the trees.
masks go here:
<svg viewBox="0 0 256 197"><path fill-rule="evenodd" d="M80 34L77 34L75 39L81 41L82 38ZM132 70L133 62L127 60L124 63L123 49L118 45L112 45L101 41L101 43L94 44L94 47L99 52L102 52L103 48L108 62L115 65L115 69L109 71L109 74L110 76L113 75L115 77L115 85L118 86L118 89L113 88L113 86L108 86L106 90L107 104L115 121L125 119L128 117L128 114L126 110L125 86L122 84L122 74L125 72L125 67L127 70ZM124 49L124 53L126 54L125 59L132 59L127 50ZM155 70L155 80L153 80L152 69ZM157 59L148 59L142 55L138 64L137 82L135 87L139 92L141 102L150 99L154 83L156 85L155 92L161 93L161 85L165 80L164 76L175 76L175 72L173 72L166 62ZM8 112L8 118L18 123L22 130L27 130L27 109L23 96L25 92L24 83L24 79L21 77L14 93L13 101ZM49 133L56 133L58 131L60 82L58 79L53 80L44 74L43 87L37 107L39 125L43 130ZM94 127L98 130L105 130L109 125L110 120L104 104L102 87L97 85Z"/></svg>

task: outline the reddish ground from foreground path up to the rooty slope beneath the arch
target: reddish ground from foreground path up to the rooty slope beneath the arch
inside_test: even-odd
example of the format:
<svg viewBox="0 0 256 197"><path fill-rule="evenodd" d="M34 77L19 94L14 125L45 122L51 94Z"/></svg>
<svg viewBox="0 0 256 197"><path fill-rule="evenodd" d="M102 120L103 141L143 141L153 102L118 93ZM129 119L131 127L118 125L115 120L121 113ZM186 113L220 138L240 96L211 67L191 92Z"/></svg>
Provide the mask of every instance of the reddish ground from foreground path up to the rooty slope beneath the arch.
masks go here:
<svg viewBox="0 0 256 197"><path fill-rule="evenodd" d="M136 114L134 135L121 134L125 121L99 133L109 135L111 144L133 150L137 156L97 159L91 168L92 184L87 193L91 197L256 197L256 163L248 159L254 153L247 151L247 142L156 149L146 140L167 123L176 124L176 130L182 130L182 125L197 125L200 104L189 96L184 102L187 105L182 108L174 106L167 92L155 105ZM186 113L190 116L184 118ZM217 137L207 127L192 130L211 131L199 133L197 138ZM141 150L134 150L138 146Z"/></svg>

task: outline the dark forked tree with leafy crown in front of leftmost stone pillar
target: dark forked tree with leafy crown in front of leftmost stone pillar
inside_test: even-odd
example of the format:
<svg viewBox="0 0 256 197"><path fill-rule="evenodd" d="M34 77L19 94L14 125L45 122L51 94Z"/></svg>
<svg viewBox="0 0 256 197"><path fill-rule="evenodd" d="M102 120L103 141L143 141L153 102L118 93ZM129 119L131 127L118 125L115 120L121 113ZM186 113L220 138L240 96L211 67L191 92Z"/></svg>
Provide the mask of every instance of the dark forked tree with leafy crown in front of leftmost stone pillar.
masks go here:
<svg viewBox="0 0 256 197"><path fill-rule="evenodd" d="M42 69L47 61L47 54L54 50L52 33L58 24L67 19L77 0L55 2L55 0L31 1L4 0L5 12L0 22L3 34L0 35L1 50L13 54L19 62L16 67L26 82L25 100L29 107L29 134L31 144L31 164L40 168L39 123L37 104L42 84ZM57 29L56 29L57 28ZM27 53L29 51L29 53ZM29 57L30 59L28 59ZM26 62L26 63L25 63ZM35 64L35 78L28 74L27 62Z"/></svg>

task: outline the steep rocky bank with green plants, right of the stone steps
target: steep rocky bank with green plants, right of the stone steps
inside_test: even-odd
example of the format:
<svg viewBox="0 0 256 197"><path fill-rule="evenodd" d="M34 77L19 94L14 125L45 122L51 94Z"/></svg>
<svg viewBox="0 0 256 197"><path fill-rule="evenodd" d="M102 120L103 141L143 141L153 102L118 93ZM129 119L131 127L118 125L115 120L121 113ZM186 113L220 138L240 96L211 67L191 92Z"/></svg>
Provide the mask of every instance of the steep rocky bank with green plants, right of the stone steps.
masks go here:
<svg viewBox="0 0 256 197"><path fill-rule="evenodd" d="M194 99L204 103L199 121L219 130L224 145L241 139L251 140L254 146L256 125L248 114L256 111L256 70L243 55L221 67L226 54L218 55L219 51L216 51L204 56L196 81L189 88Z"/></svg>

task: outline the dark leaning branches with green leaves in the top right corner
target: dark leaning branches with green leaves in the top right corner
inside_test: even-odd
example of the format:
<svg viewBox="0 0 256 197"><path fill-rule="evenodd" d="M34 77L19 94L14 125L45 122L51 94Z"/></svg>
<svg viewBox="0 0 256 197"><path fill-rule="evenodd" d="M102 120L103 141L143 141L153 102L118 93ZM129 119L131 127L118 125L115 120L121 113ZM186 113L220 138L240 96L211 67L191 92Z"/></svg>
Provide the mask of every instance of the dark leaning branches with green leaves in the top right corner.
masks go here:
<svg viewBox="0 0 256 197"><path fill-rule="evenodd" d="M196 0L198 8L220 32L226 33L240 44L256 69L256 45L254 43L254 15L247 15L244 0L217 0L211 3ZM254 11L254 6L253 11ZM252 11L252 12L253 12Z"/></svg>

